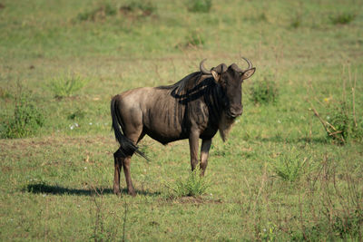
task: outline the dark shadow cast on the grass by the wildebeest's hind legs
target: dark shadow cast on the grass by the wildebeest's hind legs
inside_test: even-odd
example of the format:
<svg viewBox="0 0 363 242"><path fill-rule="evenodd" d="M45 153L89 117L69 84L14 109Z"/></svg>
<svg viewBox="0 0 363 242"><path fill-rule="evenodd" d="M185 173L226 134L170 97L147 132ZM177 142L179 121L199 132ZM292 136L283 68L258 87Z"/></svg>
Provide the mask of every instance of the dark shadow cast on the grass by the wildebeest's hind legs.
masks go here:
<svg viewBox="0 0 363 242"><path fill-rule="evenodd" d="M60 186L51 186L44 183L35 183L29 184L26 186L25 191L31 193L46 193L46 194L54 194L54 195L76 195L76 196L93 196L95 194L113 194L113 189L103 189L103 188L95 188L94 189L66 189ZM127 194L127 189L121 190L122 194ZM143 196L158 196L161 193L149 192L147 190L137 190L136 194Z"/></svg>

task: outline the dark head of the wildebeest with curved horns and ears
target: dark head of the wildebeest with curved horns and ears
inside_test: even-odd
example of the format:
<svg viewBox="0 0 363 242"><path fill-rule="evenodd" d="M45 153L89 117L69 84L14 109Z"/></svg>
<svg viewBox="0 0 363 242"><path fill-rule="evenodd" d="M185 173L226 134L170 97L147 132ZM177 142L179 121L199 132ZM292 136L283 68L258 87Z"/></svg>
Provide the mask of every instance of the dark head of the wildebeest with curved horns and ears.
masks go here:
<svg viewBox="0 0 363 242"><path fill-rule="evenodd" d="M245 70L240 69L235 63L232 63L229 67L225 63L221 63L211 68L211 71L207 71L203 65L206 59L201 61L200 64L201 73L211 74L214 81L221 85L225 94L224 108L230 118L236 118L242 114L242 82L253 75L256 70L248 59L242 58L249 64L249 67Z"/></svg>

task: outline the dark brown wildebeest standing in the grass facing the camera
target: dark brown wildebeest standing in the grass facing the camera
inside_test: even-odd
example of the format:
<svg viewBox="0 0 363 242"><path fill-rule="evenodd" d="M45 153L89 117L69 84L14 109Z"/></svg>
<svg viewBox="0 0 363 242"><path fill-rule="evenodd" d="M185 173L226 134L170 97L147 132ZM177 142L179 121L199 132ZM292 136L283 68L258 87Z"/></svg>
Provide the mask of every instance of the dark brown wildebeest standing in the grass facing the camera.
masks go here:
<svg viewBox="0 0 363 242"><path fill-rule="evenodd" d="M242 57L243 58L243 57ZM252 63L245 70L232 63L221 63L206 70L201 61L200 72L191 73L169 86L142 87L113 97L111 115L113 131L120 148L114 152L113 192L120 194L120 170L126 179L128 193L135 191L130 175L133 153L143 155L137 143L145 134L162 144L189 139L191 169L198 164L201 139L201 176L207 168L211 139L220 131L222 140L236 117L243 111L242 82L255 73Z"/></svg>

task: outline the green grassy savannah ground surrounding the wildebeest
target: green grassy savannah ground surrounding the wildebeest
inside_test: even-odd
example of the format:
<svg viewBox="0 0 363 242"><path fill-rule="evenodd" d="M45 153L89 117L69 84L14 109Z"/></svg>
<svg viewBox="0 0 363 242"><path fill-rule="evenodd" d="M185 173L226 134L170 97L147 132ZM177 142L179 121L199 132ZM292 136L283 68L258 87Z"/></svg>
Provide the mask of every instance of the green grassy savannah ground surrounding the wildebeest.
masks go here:
<svg viewBox="0 0 363 242"><path fill-rule="evenodd" d="M0 4L0 240L362 240L362 1ZM240 55L257 72L206 192L170 189L190 176L186 140L145 138L137 196L114 196L111 97ZM344 141L314 110L343 117Z"/></svg>

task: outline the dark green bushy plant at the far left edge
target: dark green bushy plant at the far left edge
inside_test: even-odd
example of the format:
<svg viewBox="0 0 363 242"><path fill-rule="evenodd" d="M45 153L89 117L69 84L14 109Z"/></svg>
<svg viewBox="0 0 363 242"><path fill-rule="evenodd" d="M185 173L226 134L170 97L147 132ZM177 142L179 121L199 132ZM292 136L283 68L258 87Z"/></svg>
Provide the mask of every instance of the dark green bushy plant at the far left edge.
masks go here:
<svg viewBox="0 0 363 242"><path fill-rule="evenodd" d="M5 139L32 136L44 125L44 115L29 98L21 97L15 104L13 116L2 124L1 137Z"/></svg>

